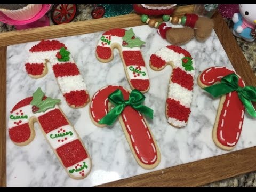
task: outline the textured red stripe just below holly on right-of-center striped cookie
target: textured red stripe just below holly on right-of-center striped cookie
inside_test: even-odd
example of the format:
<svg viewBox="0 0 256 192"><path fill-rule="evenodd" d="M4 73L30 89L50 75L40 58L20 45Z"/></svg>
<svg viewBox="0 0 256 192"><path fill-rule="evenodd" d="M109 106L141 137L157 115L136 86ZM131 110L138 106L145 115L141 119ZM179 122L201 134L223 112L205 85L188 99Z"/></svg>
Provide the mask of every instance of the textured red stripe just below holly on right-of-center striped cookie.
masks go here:
<svg viewBox="0 0 256 192"><path fill-rule="evenodd" d="M181 68L177 67L172 70L172 82L177 83L182 87L187 88L188 90L193 90L193 77L190 74L187 74Z"/></svg>

